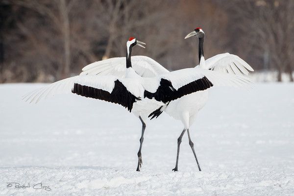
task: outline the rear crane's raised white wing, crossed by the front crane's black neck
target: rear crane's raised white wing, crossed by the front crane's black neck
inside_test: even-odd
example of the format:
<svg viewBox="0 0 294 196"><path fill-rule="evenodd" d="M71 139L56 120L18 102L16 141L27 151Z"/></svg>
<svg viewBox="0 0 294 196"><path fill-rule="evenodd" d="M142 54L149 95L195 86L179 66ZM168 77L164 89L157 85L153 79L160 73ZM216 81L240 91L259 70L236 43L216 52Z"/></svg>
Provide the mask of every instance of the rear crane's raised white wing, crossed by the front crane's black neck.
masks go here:
<svg viewBox="0 0 294 196"><path fill-rule="evenodd" d="M115 57L91 63L82 69L80 75L115 75L125 77L125 57ZM167 69L147 56L132 56L132 67L142 77L154 77L169 73Z"/></svg>

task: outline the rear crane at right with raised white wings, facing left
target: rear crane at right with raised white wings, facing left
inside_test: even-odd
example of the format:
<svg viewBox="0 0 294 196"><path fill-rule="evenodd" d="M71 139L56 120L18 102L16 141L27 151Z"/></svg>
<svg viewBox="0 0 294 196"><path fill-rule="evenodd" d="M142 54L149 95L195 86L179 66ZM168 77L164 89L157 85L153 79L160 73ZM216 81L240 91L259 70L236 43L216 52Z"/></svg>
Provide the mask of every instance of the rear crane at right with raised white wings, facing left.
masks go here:
<svg viewBox="0 0 294 196"><path fill-rule="evenodd" d="M248 75L249 71L253 72L253 69L239 56L223 53L213 56L207 60L204 59L204 32L201 28L196 28L193 32L189 33L186 37L197 36L199 38L199 66L196 66L195 69L198 72L203 72L207 70L213 70L214 73L223 74L222 80L217 80L217 75L215 78L209 77L210 80L215 80L214 86L243 86L245 83L238 83L237 81L232 80L233 75L243 74ZM80 75L116 75L120 78L125 77L125 57L111 58L103 61L98 61L92 63L82 69ZM169 73L163 66L154 61L153 59L147 56L134 56L132 57L133 69L136 73L143 77L154 77L163 73ZM200 68L200 69L198 69ZM211 74L209 72L208 74ZM226 78L227 77L227 78ZM249 82L249 80L247 80ZM209 97L207 90L199 91L186 95L182 98L172 100L169 104L160 106L157 110L153 111L150 116L151 118L158 117L163 111L172 116L174 119L180 120L184 129L178 138L178 147L177 147L177 158L176 165L173 171L178 171L178 157L179 157L179 148L182 141L182 137L187 130L189 145L192 148L194 153L198 170L201 171L195 149L194 143L191 140L189 127L194 123L198 111L206 104Z"/></svg>

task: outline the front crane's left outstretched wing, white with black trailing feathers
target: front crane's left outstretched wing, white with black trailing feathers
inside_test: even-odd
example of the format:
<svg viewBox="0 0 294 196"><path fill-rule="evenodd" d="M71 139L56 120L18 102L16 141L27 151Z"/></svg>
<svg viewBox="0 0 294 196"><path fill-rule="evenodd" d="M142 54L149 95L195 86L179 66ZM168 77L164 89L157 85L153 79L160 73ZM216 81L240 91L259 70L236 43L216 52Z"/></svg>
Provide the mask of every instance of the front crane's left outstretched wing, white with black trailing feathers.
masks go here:
<svg viewBox="0 0 294 196"><path fill-rule="evenodd" d="M127 79L123 79L127 80ZM26 94L23 99L30 103L37 103L42 99L57 94L74 93L88 98L97 98L112 103L118 103L131 111L133 103L140 100L133 95L125 85L128 81L120 81L115 76L77 75L66 78ZM130 82L128 82L130 83ZM132 85L132 89L139 89L140 85Z"/></svg>

